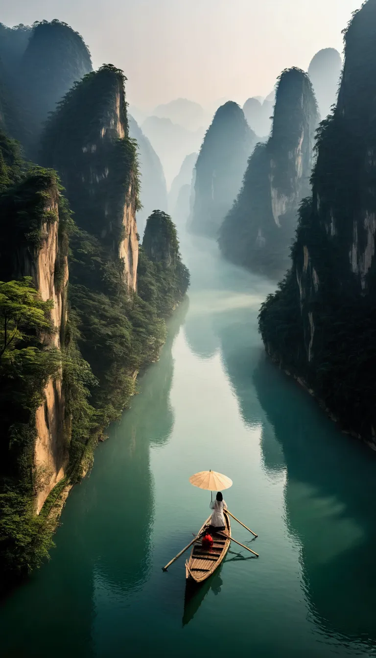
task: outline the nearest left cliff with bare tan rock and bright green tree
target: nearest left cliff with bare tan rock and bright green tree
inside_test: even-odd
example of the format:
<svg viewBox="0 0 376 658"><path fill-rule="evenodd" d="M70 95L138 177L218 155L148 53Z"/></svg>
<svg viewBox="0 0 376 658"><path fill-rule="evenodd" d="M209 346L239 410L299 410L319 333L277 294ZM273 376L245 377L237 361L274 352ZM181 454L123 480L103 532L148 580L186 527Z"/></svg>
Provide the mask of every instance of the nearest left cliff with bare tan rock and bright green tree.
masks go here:
<svg viewBox="0 0 376 658"><path fill-rule="evenodd" d="M0 573L40 565L55 485L88 441L84 364L67 323L72 220L52 170L27 168L0 133ZM74 413L75 412L75 413ZM82 450L78 451L81 442ZM38 516L43 507L43 514Z"/></svg>

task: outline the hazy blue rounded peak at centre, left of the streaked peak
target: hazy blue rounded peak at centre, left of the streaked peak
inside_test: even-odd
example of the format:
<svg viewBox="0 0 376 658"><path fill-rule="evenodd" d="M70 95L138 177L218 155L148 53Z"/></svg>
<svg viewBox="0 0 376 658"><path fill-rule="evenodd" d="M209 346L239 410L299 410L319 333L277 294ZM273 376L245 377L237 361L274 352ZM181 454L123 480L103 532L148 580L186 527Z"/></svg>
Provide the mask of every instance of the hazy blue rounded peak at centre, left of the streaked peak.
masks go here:
<svg viewBox="0 0 376 658"><path fill-rule="evenodd" d="M223 218L242 184L256 136L242 109L232 101L222 105L205 135L196 163L195 198L190 230L217 237Z"/></svg>

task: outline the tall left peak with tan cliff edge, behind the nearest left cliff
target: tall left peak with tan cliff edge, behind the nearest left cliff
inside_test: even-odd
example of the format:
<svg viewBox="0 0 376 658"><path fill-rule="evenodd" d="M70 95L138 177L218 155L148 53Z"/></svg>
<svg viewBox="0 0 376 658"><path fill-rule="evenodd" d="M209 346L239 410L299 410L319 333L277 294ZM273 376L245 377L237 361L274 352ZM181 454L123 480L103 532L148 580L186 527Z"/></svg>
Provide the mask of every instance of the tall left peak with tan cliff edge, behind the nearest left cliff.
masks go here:
<svg viewBox="0 0 376 658"><path fill-rule="evenodd" d="M42 139L43 161L61 174L80 228L72 239L71 299L104 424L129 404L140 367L157 358L162 317L173 307L166 299L174 298L160 268L144 253L139 261L137 147L124 81L111 64L86 75L59 103Z"/></svg>

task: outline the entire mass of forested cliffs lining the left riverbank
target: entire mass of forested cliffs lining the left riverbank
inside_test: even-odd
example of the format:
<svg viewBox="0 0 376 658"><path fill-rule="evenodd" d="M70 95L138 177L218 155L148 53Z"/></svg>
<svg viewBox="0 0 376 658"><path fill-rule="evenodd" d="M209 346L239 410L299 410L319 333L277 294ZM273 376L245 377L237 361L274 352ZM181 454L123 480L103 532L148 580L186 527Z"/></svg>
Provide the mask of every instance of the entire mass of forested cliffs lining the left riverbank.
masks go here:
<svg viewBox="0 0 376 658"><path fill-rule="evenodd" d="M4 74L0 87L2 578L47 557L69 488L129 405L140 368L158 358L165 318L189 285L169 215L151 213L139 247L142 186L123 72L88 72L88 50L65 24L21 28L9 43L18 31L30 40L20 39L17 57L5 49L7 66L26 66L22 44L29 86L7 96ZM34 93L38 111L29 107L37 165L22 154L28 136L21 146L7 134L5 101L26 116L33 85L46 82L47 50L51 95Z"/></svg>

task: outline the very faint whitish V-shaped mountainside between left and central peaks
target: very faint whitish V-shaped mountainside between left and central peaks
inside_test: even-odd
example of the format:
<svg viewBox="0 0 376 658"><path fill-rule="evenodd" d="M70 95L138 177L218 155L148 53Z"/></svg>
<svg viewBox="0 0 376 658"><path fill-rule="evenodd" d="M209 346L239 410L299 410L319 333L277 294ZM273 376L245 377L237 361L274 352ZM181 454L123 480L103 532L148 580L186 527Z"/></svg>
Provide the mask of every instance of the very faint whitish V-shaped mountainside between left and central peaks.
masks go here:
<svg viewBox="0 0 376 658"><path fill-rule="evenodd" d="M161 159L169 189L186 155L200 149L205 128L193 132L173 123L169 118L158 116L149 116L141 127Z"/></svg>

